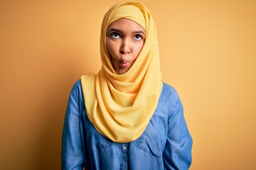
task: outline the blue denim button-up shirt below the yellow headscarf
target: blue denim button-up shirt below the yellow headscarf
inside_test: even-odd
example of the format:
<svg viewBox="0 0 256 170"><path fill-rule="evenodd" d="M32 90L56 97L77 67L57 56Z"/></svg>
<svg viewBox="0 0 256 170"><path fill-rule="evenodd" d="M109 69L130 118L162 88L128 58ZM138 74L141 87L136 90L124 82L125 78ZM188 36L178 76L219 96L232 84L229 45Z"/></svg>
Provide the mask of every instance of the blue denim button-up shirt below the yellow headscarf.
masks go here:
<svg viewBox="0 0 256 170"><path fill-rule="evenodd" d="M137 140L112 142L87 117L80 80L70 92L63 126L62 169L188 169L192 138L178 94L163 83L158 106Z"/></svg>

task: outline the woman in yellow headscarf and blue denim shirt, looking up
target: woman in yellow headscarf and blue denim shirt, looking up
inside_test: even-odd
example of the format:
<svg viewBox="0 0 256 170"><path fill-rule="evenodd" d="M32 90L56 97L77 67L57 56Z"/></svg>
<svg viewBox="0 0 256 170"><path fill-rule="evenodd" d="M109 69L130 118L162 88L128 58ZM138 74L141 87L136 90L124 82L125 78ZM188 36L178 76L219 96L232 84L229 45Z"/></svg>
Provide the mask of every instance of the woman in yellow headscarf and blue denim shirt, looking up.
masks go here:
<svg viewBox="0 0 256 170"><path fill-rule="evenodd" d="M154 20L138 2L102 21L102 68L70 92L62 169L188 169L192 139L176 91L161 82Z"/></svg>

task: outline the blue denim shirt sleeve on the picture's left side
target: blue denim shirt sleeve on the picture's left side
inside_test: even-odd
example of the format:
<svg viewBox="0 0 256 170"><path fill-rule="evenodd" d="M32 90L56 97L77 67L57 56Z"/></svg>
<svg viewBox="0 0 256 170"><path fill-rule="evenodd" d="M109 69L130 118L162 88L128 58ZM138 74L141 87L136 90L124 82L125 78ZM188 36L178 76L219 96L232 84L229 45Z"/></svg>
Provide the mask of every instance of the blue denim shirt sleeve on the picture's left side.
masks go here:
<svg viewBox="0 0 256 170"><path fill-rule="evenodd" d="M68 106L63 125L61 169L82 169L84 166L84 154L80 135L80 114L78 98L74 92L70 92Z"/></svg>

